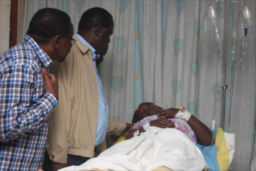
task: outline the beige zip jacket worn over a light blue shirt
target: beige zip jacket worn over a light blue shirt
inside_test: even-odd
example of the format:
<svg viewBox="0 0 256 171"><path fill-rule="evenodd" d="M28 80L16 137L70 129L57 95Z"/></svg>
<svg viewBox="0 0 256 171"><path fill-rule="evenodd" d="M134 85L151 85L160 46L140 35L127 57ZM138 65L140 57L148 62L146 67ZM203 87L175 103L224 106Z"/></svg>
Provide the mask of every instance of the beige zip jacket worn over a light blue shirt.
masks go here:
<svg viewBox="0 0 256 171"><path fill-rule="evenodd" d="M66 163L67 154L93 157L98 118L98 90L91 50L78 38L64 62L50 72L58 80L58 105L49 115L47 152L54 162ZM107 134L120 135L125 122L109 118ZM97 146L106 149L105 141Z"/></svg>

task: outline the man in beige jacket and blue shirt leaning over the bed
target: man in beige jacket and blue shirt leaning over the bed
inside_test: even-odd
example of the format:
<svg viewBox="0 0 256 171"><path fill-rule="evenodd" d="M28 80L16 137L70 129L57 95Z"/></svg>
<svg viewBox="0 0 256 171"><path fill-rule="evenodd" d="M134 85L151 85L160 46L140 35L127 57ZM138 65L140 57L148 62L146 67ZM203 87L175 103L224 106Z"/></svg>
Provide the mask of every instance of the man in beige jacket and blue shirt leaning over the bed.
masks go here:
<svg viewBox="0 0 256 171"><path fill-rule="evenodd" d="M51 67L59 84L58 106L49 117L47 154L51 170L82 164L93 157L95 147L106 149L106 134L120 135L132 127L108 117L95 64L98 54L110 42L113 26L112 16L106 10L87 10L65 61Z"/></svg>

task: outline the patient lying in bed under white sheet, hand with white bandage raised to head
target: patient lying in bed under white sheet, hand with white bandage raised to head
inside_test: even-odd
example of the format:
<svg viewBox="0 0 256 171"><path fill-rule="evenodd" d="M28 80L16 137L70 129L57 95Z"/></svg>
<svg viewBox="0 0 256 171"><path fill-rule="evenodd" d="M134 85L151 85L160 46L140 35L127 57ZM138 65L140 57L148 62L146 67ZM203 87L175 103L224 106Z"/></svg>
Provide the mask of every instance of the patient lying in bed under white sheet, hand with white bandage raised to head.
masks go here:
<svg viewBox="0 0 256 171"><path fill-rule="evenodd" d="M195 144L198 141L210 145L214 141L212 132L189 112L141 103L133 121L134 118L142 120L128 131L127 140L79 166L61 170L153 170L161 166L172 170L202 170L206 167Z"/></svg>

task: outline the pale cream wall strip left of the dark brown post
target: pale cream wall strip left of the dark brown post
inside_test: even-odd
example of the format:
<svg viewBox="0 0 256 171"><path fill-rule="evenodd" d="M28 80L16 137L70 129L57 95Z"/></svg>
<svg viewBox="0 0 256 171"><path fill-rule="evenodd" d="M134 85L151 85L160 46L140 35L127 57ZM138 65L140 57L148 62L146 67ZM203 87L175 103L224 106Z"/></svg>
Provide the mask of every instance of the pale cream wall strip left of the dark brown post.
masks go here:
<svg viewBox="0 0 256 171"><path fill-rule="evenodd" d="M0 56L9 49L10 0L0 1Z"/></svg>

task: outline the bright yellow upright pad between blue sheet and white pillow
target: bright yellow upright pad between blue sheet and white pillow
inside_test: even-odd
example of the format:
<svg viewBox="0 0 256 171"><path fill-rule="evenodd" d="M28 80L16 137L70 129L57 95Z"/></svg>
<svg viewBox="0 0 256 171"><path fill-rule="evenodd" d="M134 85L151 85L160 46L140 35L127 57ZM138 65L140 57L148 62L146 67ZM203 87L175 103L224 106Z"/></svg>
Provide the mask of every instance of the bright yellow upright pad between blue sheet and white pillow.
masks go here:
<svg viewBox="0 0 256 171"><path fill-rule="evenodd" d="M219 170L227 170L229 167L229 156L222 128L217 128L215 144L217 147L217 162Z"/></svg>

